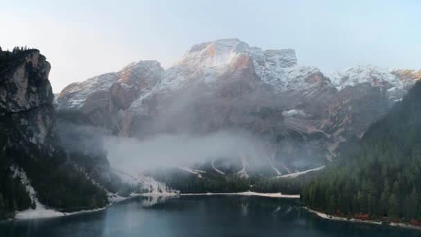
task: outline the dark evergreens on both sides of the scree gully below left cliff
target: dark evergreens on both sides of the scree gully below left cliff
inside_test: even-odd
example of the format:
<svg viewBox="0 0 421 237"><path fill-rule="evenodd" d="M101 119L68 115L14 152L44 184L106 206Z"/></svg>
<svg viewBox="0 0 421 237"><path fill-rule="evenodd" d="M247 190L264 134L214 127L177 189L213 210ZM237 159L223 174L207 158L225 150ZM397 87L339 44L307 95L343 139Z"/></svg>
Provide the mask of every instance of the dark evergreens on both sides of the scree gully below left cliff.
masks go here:
<svg viewBox="0 0 421 237"><path fill-rule="evenodd" d="M48 155L35 149L31 154L10 148L0 152L0 220L12 218L15 211L36 207L20 178L13 177L10 167L15 164L26 172L37 198L46 207L66 212L105 207L105 189L93 184L67 158L64 152Z"/></svg>

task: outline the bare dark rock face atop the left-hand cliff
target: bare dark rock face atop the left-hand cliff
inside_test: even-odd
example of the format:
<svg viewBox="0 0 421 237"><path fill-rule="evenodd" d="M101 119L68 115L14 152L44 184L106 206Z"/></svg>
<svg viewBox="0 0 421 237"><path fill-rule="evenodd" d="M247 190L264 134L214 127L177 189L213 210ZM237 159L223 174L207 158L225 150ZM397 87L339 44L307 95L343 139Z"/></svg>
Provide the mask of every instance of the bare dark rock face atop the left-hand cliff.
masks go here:
<svg viewBox="0 0 421 237"><path fill-rule="evenodd" d="M50 68L46 58L34 49L1 69L0 126L10 145L27 142L53 151L55 121L54 96L48 81Z"/></svg>

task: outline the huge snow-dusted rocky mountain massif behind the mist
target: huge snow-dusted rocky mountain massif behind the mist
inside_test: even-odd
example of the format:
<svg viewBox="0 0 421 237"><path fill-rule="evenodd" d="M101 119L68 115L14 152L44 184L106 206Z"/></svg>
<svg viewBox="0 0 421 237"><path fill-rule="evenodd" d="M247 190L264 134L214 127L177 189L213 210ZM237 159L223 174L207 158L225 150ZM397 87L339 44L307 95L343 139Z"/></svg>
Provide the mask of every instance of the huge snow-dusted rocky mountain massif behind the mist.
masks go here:
<svg viewBox="0 0 421 237"><path fill-rule="evenodd" d="M56 109L138 139L245 130L265 141L269 175L285 175L334 159L412 84L373 66L325 76L299 65L292 49L263 51L226 39L192 46L169 69L140 61L72 83Z"/></svg>

